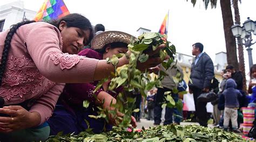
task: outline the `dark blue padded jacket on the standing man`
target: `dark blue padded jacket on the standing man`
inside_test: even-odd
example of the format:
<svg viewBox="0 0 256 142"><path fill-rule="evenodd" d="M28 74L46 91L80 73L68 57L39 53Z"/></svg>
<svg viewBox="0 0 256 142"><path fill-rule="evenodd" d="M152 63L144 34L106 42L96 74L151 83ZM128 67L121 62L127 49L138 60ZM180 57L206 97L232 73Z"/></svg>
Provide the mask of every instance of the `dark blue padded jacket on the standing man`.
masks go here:
<svg viewBox="0 0 256 142"><path fill-rule="evenodd" d="M191 65L190 79L192 82L188 82L190 88L196 87L199 89L210 88L211 80L214 77L214 67L210 56L203 53L197 64L194 65L194 61Z"/></svg>

